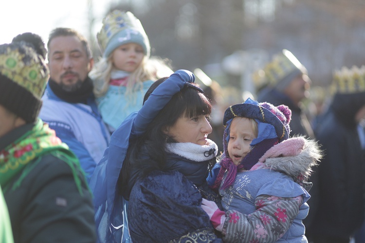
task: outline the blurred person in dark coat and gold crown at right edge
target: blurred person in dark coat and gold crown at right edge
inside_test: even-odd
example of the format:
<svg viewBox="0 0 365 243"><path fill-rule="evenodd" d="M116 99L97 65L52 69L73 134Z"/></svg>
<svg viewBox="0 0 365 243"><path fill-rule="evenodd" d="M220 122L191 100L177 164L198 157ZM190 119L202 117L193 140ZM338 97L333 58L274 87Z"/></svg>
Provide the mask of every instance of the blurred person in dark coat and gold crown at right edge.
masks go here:
<svg viewBox="0 0 365 243"><path fill-rule="evenodd" d="M313 185L319 191L314 243L348 243L364 223L364 134L359 124L365 117L365 66L335 70L331 90L332 101L315 130L325 156Z"/></svg>

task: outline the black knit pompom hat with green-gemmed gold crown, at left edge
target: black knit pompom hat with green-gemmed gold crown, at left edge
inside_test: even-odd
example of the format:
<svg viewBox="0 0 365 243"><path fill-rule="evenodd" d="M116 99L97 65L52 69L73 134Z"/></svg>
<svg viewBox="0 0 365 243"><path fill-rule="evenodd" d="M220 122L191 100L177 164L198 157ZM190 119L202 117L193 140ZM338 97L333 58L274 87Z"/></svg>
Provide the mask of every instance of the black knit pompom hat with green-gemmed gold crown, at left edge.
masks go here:
<svg viewBox="0 0 365 243"><path fill-rule="evenodd" d="M24 33L0 45L0 104L27 123L36 121L49 70L39 35Z"/></svg>

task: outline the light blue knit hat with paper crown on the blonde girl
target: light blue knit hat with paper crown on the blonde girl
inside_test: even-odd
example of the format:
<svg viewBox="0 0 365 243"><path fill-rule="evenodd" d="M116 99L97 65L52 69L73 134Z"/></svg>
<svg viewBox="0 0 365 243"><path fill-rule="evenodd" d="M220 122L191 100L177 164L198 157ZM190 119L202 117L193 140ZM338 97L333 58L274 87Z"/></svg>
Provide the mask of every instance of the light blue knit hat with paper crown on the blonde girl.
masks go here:
<svg viewBox="0 0 365 243"><path fill-rule="evenodd" d="M137 43L146 56L150 54L149 40L138 18L131 12L114 10L103 19L103 27L96 35L103 57L108 57L117 47Z"/></svg>

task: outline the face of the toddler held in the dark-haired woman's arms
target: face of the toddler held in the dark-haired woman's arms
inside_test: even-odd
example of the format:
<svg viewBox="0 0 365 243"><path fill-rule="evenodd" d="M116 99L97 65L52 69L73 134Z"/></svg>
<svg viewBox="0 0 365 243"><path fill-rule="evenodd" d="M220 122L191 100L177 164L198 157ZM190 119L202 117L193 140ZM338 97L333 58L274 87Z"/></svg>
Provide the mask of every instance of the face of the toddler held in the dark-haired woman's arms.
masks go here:
<svg viewBox="0 0 365 243"><path fill-rule="evenodd" d="M250 143L257 138L257 129L252 119L236 117L232 120L229 140L228 154L235 165L250 152Z"/></svg>

